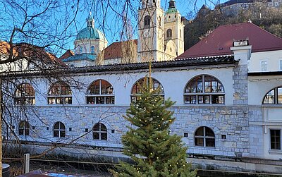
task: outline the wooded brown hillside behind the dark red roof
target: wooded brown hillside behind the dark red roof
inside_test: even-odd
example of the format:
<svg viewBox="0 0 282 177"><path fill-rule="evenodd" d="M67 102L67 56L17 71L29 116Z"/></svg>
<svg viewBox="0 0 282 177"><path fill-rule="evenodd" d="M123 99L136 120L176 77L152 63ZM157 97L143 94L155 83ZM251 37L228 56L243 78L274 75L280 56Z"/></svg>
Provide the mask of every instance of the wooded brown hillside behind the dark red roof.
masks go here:
<svg viewBox="0 0 282 177"><path fill-rule="evenodd" d="M264 30L282 37L282 6L269 8L263 4L255 4L250 8L238 9L233 13L219 6L214 10L202 6L193 20L184 20L185 50L220 25L244 23L249 20Z"/></svg>

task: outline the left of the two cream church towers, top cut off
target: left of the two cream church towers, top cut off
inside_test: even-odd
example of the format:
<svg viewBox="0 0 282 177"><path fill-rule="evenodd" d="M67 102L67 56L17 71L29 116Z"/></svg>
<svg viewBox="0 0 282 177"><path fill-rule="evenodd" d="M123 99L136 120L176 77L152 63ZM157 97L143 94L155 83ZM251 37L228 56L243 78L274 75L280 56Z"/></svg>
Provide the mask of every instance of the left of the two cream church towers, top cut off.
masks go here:
<svg viewBox="0 0 282 177"><path fill-rule="evenodd" d="M138 62L164 60L164 11L160 0L142 0L138 11Z"/></svg>

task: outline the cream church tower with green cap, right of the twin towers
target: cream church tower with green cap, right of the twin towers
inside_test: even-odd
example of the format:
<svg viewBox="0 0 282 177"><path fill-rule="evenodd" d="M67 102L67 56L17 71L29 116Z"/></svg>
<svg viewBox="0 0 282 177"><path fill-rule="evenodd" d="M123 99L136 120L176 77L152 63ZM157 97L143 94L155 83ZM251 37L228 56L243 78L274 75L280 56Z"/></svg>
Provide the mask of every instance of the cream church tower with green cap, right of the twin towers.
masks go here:
<svg viewBox="0 0 282 177"><path fill-rule="evenodd" d="M168 10L164 15L164 32L165 53L174 57L183 54L184 25L174 0L169 1Z"/></svg>

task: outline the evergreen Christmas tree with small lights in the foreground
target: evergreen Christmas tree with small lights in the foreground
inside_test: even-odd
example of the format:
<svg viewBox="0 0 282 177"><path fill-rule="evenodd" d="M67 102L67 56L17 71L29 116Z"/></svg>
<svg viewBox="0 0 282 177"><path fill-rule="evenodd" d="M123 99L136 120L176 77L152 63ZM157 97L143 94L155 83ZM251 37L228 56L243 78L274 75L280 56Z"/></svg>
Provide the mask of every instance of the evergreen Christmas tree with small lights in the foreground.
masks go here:
<svg viewBox="0 0 282 177"><path fill-rule="evenodd" d="M113 171L114 176L196 176L186 162L186 147L178 135L169 134L173 123L174 104L170 99L164 102L159 88L152 89L151 78L145 78L141 94L135 95L136 102L130 105L125 117L133 124L123 135L123 154L133 159L133 164L121 162Z"/></svg>

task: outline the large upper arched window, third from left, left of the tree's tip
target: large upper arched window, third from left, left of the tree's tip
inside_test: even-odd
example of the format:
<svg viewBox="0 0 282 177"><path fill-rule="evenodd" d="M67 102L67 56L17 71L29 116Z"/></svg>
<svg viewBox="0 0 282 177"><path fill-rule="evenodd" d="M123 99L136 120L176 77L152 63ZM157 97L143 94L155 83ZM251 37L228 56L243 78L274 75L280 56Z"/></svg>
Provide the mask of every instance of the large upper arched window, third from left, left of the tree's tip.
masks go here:
<svg viewBox="0 0 282 177"><path fill-rule="evenodd" d="M114 87L106 80L96 80L88 87L87 104L114 104Z"/></svg>

